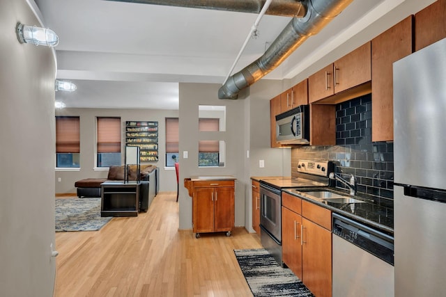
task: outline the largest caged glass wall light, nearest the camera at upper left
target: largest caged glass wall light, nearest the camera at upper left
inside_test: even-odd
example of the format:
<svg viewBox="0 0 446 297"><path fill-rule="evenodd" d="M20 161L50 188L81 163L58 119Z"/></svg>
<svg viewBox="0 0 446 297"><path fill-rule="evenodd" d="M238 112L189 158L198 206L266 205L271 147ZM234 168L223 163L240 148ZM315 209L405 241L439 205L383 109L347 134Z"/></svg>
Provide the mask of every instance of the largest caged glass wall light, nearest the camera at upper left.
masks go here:
<svg viewBox="0 0 446 297"><path fill-rule="evenodd" d="M55 47L59 44L59 36L51 29L18 23L15 31L20 43L32 43L33 45L45 45L47 47Z"/></svg>

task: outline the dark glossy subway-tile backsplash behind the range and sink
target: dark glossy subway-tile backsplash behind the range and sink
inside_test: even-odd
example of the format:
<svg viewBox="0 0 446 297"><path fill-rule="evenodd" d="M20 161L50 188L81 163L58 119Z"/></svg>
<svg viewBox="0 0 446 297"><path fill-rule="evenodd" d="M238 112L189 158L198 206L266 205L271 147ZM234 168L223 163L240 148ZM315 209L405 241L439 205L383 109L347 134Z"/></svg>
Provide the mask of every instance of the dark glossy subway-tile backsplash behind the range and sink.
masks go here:
<svg viewBox="0 0 446 297"><path fill-rule="evenodd" d="M336 145L293 148L291 175L299 159L328 159L344 179L355 175L358 192L393 199L393 143L371 142L371 112L371 94L337 104Z"/></svg>

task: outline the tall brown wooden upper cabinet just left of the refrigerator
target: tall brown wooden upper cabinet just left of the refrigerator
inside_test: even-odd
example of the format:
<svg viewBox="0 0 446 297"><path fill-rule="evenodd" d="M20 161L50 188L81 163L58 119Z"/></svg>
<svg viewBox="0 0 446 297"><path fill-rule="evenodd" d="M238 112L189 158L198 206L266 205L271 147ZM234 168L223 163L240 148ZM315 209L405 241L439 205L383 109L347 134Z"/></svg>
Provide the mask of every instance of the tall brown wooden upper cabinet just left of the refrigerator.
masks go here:
<svg viewBox="0 0 446 297"><path fill-rule="evenodd" d="M371 40L372 141L393 141L393 63L412 54L412 24L406 17Z"/></svg>

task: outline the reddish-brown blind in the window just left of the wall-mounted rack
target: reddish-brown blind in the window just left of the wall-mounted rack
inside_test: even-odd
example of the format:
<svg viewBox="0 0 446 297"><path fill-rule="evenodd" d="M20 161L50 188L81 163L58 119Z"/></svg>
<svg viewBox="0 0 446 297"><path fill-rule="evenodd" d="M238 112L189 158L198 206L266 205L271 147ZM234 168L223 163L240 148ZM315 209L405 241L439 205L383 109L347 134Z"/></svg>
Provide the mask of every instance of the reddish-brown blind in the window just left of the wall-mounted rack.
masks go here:
<svg viewBox="0 0 446 297"><path fill-rule="evenodd" d="M98 153L121 152L121 118L98 118Z"/></svg>

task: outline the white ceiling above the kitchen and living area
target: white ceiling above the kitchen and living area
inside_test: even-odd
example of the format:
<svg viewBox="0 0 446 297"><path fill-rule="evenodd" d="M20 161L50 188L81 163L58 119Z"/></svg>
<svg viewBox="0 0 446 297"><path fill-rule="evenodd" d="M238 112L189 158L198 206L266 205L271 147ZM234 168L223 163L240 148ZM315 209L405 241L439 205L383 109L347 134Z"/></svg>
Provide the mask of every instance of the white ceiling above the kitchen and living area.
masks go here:
<svg viewBox="0 0 446 297"><path fill-rule="evenodd" d="M178 109L178 83L224 83L257 18L119 1L35 1L59 35L56 76L77 85L56 92L56 100L79 108ZM433 1L354 0L263 79L305 78ZM231 74L259 58L289 20L263 16Z"/></svg>

